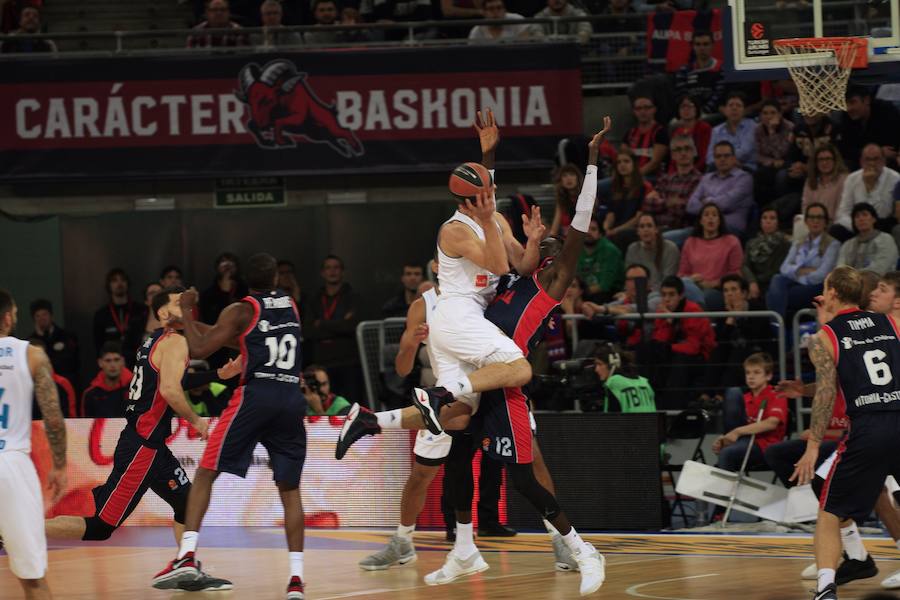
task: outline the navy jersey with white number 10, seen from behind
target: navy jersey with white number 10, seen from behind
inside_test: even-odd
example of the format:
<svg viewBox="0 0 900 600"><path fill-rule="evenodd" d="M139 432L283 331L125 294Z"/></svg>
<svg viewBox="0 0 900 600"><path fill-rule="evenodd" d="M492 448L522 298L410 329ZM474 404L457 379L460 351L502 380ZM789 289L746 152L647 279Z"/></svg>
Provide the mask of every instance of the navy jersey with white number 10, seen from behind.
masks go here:
<svg viewBox="0 0 900 600"><path fill-rule="evenodd" d="M244 361L241 385L273 381L296 387L301 372L300 316L293 299L277 290L249 294L242 302L253 307L253 318L239 338Z"/></svg>

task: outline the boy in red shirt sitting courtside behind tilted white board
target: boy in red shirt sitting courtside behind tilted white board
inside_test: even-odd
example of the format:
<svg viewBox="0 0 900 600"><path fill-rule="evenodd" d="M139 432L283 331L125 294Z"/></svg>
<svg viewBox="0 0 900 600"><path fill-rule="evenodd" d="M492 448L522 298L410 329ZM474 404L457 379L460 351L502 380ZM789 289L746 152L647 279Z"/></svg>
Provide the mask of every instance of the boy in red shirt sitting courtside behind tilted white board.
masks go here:
<svg viewBox="0 0 900 600"><path fill-rule="evenodd" d="M787 430L787 398L772 387L772 357L764 352L744 360L744 376L749 391L741 398L740 388L729 388L723 403L725 429L728 432L713 442L719 455L716 466L728 471L741 468L750 436L756 434L747 467L766 467L766 448L784 439ZM762 419L758 415L762 410Z"/></svg>

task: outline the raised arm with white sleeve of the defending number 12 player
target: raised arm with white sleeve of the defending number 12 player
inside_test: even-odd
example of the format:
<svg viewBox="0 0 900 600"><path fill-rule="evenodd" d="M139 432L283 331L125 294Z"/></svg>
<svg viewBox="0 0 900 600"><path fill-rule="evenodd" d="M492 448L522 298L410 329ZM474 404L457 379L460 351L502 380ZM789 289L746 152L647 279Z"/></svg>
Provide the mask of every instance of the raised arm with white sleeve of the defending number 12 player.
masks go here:
<svg viewBox="0 0 900 600"><path fill-rule="evenodd" d="M584 249L584 239L591 224L594 213L594 202L597 198L597 160L600 157L600 144L612 126L612 119L603 117L603 129L594 134L588 144L588 165L584 175L584 183L578 201L575 203L575 215L572 218L569 233L563 243L559 257L554 261L553 281L546 286L547 293L554 298L562 298L566 288L572 283L578 266L578 257Z"/></svg>

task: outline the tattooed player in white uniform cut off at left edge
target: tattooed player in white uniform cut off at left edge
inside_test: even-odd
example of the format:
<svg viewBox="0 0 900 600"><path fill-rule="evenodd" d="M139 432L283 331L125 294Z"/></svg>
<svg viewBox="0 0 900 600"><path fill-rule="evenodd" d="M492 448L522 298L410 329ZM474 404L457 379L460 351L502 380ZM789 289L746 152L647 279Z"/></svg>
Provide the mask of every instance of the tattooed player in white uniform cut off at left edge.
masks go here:
<svg viewBox="0 0 900 600"><path fill-rule="evenodd" d="M12 337L18 309L0 290L0 538L9 568L29 600L51 598L44 535L44 501L31 461L31 402L37 398L53 455L53 502L66 487L66 424L44 351Z"/></svg>

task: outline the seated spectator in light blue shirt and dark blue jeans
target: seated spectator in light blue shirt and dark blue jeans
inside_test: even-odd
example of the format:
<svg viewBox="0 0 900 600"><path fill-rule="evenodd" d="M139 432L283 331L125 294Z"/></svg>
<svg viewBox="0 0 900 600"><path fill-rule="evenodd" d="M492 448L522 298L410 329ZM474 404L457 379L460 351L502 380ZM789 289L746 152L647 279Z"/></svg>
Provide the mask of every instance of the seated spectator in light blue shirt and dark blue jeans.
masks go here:
<svg viewBox="0 0 900 600"><path fill-rule="evenodd" d="M828 235L828 210L820 202L806 207L804 217L809 235L796 242L781 263L781 272L772 278L766 293L769 310L787 316L788 311L809 308L822 293L825 276L837 264L841 244Z"/></svg>

